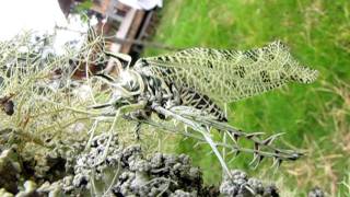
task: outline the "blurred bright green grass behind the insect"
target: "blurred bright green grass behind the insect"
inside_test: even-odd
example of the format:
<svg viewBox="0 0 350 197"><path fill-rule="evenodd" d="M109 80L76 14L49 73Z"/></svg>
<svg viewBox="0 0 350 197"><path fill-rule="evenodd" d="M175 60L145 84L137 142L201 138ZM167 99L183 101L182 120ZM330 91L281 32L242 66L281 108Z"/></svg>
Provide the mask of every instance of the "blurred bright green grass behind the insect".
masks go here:
<svg viewBox="0 0 350 197"><path fill-rule="evenodd" d="M350 170L350 1L349 0L165 0L153 38L173 47L249 49L275 39L287 43L304 65L317 69L311 85L287 88L230 104L230 124L245 131L285 132L280 144L306 151L272 173L252 170L250 155L230 163L304 195L319 186L331 195L349 189ZM148 48L144 56L168 51ZM177 140L177 153L191 155L206 183L218 183L220 164L210 149ZM349 190L348 190L349 192Z"/></svg>

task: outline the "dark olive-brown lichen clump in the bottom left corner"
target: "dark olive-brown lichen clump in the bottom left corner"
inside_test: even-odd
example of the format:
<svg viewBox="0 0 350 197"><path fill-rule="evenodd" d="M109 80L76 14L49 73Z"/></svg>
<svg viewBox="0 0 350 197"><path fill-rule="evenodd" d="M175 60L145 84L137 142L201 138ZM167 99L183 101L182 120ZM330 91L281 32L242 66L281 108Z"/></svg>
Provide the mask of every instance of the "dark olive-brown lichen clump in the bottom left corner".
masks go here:
<svg viewBox="0 0 350 197"><path fill-rule="evenodd" d="M72 173L70 169L83 146L56 142L52 149L39 147L23 142L21 135L12 129L0 130L0 188L16 196L35 196L37 186Z"/></svg>

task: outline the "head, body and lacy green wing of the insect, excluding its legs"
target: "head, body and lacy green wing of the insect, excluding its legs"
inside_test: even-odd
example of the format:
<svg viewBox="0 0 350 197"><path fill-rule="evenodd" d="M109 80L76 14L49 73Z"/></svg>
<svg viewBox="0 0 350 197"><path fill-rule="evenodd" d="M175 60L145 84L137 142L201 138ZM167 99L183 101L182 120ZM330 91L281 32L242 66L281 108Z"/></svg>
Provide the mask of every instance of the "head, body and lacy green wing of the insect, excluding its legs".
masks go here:
<svg viewBox="0 0 350 197"><path fill-rule="evenodd" d="M97 76L115 88L110 105L137 103L143 115L154 105L187 106L226 121L224 103L317 78L317 71L300 66L281 42L247 51L192 48L141 58L133 66L130 57L108 55L113 68Z"/></svg>

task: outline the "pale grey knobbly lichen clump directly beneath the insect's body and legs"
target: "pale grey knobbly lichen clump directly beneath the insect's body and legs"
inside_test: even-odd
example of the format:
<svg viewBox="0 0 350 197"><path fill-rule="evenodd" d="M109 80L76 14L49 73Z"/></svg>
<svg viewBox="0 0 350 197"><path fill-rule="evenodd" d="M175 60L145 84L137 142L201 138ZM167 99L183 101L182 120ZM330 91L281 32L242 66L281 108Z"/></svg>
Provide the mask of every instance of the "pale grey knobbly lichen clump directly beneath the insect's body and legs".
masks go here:
<svg viewBox="0 0 350 197"><path fill-rule="evenodd" d="M145 158L140 146L122 148L115 136L103 155L107 140L107 135L96 136L90 150L78 155L72 182L75 188L94 189L97 194L107 190L116 196L206 193L201 173L191 166L187 155L156 153Z"/></svg>

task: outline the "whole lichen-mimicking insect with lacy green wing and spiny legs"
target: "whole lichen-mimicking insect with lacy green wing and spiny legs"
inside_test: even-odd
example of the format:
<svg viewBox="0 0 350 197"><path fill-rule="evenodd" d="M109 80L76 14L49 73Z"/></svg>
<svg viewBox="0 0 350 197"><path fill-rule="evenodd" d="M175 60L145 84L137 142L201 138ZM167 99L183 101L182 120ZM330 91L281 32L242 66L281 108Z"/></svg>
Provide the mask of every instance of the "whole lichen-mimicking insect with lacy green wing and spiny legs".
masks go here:
<svg viewBox="0 0 350 197"><path fill-rule="evenodd" d="M272 158L280 164L296 160L301 154L278 149L272 135L265 140L260 134L246 134L226 124L223 105L228 102L261 94L290 82L311 83L318 72L301 66L281 42L270 43L250 50L191 48L170 55L145 57L130 65L131 57L102 51L108 63L95 73L113 89L108 103L93 108L109 107L122 112L127 119L152 124L152 114L161 119L174 118L199 131L211 146L223 169L229 173L223 158L210 135L210 128L228 131L238 154L250 152L252 162ZM155 125L155 124L153 124ZM254 148L244 149L237 140L245 138ZM230 174L230 173L229 173Z"/></svg>

